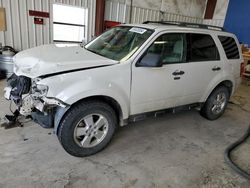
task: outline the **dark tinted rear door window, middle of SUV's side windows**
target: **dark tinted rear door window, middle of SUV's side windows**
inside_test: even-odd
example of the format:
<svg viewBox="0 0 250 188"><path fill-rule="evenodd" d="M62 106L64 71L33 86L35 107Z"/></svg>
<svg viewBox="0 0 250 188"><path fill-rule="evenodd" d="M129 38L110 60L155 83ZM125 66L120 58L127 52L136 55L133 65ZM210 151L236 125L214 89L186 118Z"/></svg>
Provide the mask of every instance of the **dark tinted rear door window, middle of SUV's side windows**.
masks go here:
<svg viewBox="0 0 250 188"><path fill-rule="evenodd" d="M189 34L188 61L219 60L219 53L213 38L207 34Z"/></svg>

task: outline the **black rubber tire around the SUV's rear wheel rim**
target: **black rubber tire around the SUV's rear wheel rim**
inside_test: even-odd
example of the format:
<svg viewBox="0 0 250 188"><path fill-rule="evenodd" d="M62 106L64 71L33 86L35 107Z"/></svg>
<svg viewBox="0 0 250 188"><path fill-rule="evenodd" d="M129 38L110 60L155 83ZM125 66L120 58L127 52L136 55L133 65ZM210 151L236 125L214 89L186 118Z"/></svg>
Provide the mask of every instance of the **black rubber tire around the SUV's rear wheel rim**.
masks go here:
<svg viewBox="0 0 250 188"><path fill-rule="evenodd" d="M213 110L216 106L214 103L216 103L216 97L222 94L225 96L225 104L221 107L221 109L218 109L218 112L216 113L216 110ZM219 86L214 89L214 91L210 94L207 101L205 102L204 106L201 108L201 115L205 117L208 120L216 120L218 119L224 112L227 107L229 100L229 89L225 86ZM218 104L219 105L219 104ZM215 107L216 108L216 107Z"/></svg>

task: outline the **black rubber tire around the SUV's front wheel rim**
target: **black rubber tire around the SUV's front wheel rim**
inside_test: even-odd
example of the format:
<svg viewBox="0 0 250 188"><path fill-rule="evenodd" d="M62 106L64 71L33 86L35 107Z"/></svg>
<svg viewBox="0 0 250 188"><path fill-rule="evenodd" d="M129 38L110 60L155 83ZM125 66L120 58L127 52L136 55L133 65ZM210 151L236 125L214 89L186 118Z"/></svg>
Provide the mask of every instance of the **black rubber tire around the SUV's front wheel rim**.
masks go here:
<svg viewBox="0 0 250 188"><path fill-rule="evenodd" d="M98 114L98 115L96 115ZM84 117L91 117L95 119L95 116L102 117L105 119L105 130L107 129L105 135L103 136L103 140L98 143L98 139L96 138L97 145L94 145L93 147L84 147L82 146L81 142L84 140L85 136L89 136L88 133L82 135L83 140L81 140L81 136L77 137L77 131L80 130L78 128L86 129L86 119ZM98 121L98 120L97 120ZM94 122L94 120L93 120ZM93 124L97 124L96 122ZM80 127L80 125L83 125L83 127ZM91 126L88 126L91 127ZM107 128L108 127L108 128ZM106 103L101 101L88 101L88 102L81 102L79 104L76 104L72 106L71 109L67 112L67 114L63 117L58 130L58 139L63 146L63 148L70 154L76 157L85 157L89 155L93 155L102 149L104 149L108 143L111 141L111 138L113 137L115 130L117 127L117 117L114 110ZM92 128L96 128L92 126ZM92 129L91 128L91 129ZM103 128L103 129L104 129ZM88 129L90 132L94 134L94 130ZM99 131L99 130L97 130ZM104 132L104 130L102 130ZM92 134L89 133L89 134ZM96 133L95 133L96 134ZM86 138L87 138L86 137ZM92 139L94 136L92 137ZM79 139L79 140L78 140ZM94 138L95 139L95 138ZM100 139L101 140L101 139ZM91 141L90 141L91 143ZM81 146L80 146L81 145Z"/></svg>

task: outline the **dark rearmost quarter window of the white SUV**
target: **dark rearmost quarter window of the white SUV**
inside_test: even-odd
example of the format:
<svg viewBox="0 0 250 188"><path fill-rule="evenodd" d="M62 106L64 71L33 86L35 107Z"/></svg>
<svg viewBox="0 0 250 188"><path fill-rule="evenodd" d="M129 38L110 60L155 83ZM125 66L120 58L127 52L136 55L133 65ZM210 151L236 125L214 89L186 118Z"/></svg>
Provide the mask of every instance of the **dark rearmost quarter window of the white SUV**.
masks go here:
<svg viewBox="0 0 250 188"><path fill-rule="evenodd" d="M239 59L239 49L232 37L219 36L219 40L224 48L227 59Z"/></svg>

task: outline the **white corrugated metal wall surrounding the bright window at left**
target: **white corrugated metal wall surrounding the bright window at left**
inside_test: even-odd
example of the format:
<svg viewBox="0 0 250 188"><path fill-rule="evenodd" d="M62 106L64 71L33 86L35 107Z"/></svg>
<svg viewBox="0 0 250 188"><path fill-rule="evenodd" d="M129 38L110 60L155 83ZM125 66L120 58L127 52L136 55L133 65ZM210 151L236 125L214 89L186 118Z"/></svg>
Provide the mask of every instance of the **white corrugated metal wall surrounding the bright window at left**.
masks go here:
<svg viewBox="0 0 250 188"><path fill-rule="evenodd" d="M0 42L23 50L53 41L53 3L88 8L87 40L95 32L95 0L0 0L0 7L6 9L6 31L0 31ZM44 18L44 25L34 24L29 10L45 11L50 18Z"/></svg>

